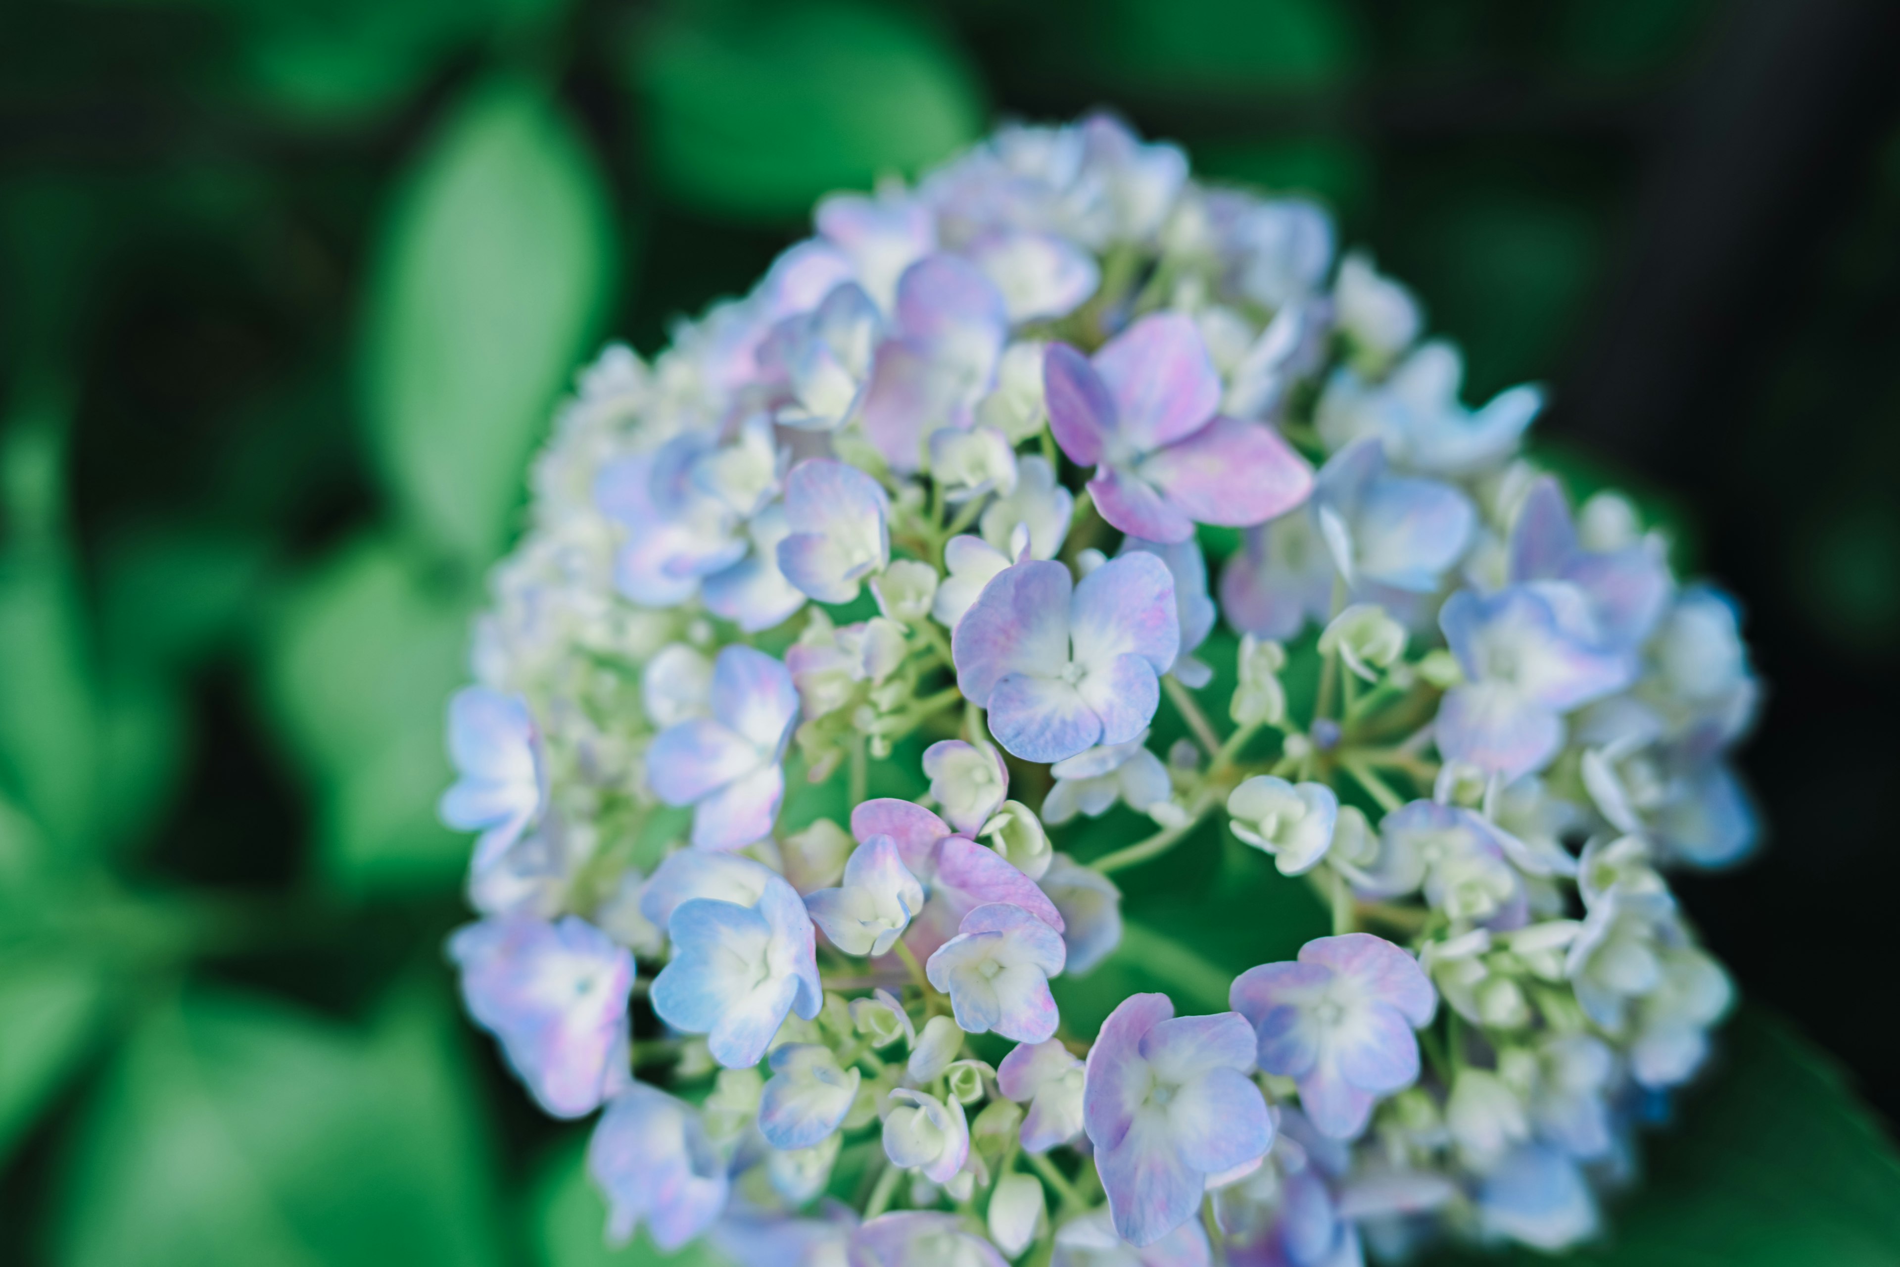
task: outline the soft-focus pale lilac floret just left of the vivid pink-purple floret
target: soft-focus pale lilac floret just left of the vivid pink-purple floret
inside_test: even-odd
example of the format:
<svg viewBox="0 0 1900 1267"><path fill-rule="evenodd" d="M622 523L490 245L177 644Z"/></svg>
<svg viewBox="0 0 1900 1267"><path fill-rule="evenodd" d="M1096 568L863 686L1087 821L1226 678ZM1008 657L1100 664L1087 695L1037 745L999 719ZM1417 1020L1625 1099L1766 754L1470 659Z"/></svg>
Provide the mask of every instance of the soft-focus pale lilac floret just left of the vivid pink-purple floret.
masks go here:
<svg viewBox="0 0 1900 1267"><path fill-rule="evenodd" d="M969 260L929 255L897 281L893 334L878 344L859 416L893 471L925 463L942 427L969 429L1009 338L1003 296Z"/></svg>

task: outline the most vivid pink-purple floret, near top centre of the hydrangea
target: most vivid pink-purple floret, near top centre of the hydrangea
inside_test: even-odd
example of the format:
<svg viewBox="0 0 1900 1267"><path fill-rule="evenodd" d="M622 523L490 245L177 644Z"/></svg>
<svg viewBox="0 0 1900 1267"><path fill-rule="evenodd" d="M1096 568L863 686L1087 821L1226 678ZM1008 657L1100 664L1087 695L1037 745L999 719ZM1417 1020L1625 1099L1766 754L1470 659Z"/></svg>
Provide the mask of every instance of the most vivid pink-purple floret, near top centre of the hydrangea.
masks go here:
<svg viewBox="0 0 1900 1267"><path fill-rule="evenodd" d="M1193 524L1258 524L1305 500L1313 469L1277 431L1222 418L1220 374L1189 317L1153 313L1092 359L1051 344L1049 424L1115 528L1186 541Z"/></svg>

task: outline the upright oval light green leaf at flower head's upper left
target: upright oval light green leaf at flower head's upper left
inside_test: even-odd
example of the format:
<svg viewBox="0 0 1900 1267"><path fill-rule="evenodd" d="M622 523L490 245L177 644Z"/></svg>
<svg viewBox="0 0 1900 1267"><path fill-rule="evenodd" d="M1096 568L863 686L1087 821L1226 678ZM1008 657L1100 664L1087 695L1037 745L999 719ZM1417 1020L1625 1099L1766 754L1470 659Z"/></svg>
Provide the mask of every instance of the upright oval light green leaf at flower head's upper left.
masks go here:
<svg viewBox="0 0 1900 1267"><path fill-rule="evenodd" d="M466 564L494 558L536 437L616 291L614 211L538 85L464 97L382 228L363 412L401 511Z"/></svg>

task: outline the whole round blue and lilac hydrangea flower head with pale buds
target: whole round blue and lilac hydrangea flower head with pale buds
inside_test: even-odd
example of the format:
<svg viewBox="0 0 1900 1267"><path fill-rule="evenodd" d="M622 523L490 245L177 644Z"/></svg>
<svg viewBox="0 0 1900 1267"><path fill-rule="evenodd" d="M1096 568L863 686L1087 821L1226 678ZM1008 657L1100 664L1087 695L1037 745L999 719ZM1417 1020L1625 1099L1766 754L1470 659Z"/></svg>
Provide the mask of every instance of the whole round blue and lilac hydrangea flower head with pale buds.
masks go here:
<svg viewBox="0 0 1900 1267"><path fill-rule="evenodd" d="M542 1107L600 1111L610 1239L1592 1235L1731 1001L1666 876L1752 845L1758 688L1628 500L1524 456L1541 393L1459 380L1315 205L1108 118L828 198L747 298L583 374L443 817L481 832L467 1007ZM1108 813L1148 824L1062 847ZM1117 872L1220 832L1334 935L1231 1011L1064 1026Z"/></svg>

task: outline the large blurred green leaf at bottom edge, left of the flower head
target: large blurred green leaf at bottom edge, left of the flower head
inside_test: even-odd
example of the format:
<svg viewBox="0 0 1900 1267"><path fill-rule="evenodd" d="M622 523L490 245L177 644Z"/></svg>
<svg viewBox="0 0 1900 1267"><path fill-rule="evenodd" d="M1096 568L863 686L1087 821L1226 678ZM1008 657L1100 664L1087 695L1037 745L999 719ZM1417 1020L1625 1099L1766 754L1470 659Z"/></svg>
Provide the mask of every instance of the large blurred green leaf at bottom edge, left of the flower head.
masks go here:
<svg viewBox="0 0 1900 1267"><path fill-rule="evenodd" d="M441 1003L361 1033L241 995L148 1018L89 1106L66 1267L502 1261L490 1147Z"/></svg>

